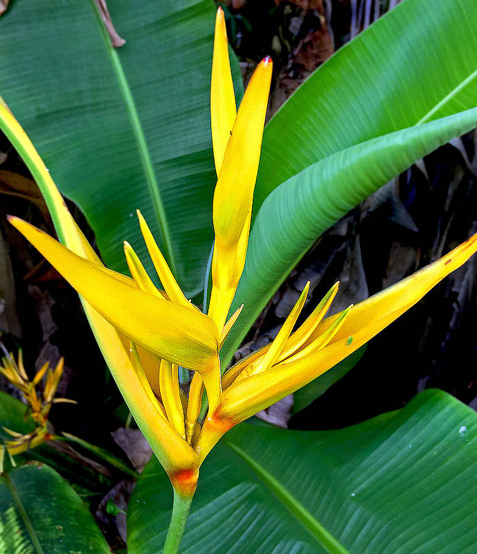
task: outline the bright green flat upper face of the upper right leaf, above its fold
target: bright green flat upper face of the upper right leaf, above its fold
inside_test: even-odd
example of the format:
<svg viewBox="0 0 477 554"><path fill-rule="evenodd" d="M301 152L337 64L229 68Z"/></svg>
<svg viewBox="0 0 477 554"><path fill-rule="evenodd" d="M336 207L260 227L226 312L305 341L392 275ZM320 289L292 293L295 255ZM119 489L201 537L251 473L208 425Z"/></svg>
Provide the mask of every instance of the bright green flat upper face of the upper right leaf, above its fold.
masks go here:
<svg viewBox="0 0 477 554"><path fill-rule="evenodd" d="M337 51L267 125L255 214L334 152L477 106L476 26L474 0L404 0Z"/></svg>

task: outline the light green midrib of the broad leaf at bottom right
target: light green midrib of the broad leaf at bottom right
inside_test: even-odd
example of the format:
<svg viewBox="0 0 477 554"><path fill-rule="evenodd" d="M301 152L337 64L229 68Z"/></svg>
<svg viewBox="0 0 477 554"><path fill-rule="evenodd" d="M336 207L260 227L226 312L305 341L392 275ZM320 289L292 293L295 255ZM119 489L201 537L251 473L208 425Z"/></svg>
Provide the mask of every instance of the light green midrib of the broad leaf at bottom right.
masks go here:
<svg viewBox="0 0 477 554"><path fill-rule="evenodd" d="M294 496L285 488L270 472L260 463L255 461L249 454L229 440L224 443L238 454L242 460L249 465L260 481L280 500L280 502L291 512L294 517L305 527L305 529L325 548L330 554L350 554L346 548L337 541L325 526L323 526Z"/></svg>

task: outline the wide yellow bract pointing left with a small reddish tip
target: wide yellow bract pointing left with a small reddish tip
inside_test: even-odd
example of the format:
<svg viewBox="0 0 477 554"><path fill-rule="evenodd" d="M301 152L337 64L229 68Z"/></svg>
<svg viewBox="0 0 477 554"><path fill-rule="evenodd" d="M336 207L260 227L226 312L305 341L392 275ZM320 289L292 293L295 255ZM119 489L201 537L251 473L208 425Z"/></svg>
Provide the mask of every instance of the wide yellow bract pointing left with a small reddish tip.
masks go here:
<svg viewBox="0 0 477 554"><path fill-rule="evenodd" d="M215 366L217 327L208 316L130 287L34 226L17 217L9 220L97 312L134 343L190 369Z"/></svg>

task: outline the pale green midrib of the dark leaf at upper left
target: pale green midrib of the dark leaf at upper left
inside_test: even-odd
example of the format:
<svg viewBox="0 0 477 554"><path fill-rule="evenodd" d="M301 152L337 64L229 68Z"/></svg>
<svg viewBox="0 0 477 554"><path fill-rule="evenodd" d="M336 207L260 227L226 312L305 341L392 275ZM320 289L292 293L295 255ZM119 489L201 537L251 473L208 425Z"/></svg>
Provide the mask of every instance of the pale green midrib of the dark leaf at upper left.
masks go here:
<svg viewBox="0 0 477 554"><path fill-rule="evenodd" d="M172 248L172 241L170 238L169 224L165 215L161 193L159 192L159 184L156 179L156 174L154 173L149 148L147 148L147 141L143 132L141 120L138 116L136 104L134 102L131 89L129 87L129 82L127 81L125 72L123 70L123 64L121 64L118 53L116 52L114 46L112 46L111 44L111 39L109 38L109 34L107 33L105 24L102 21L98 6L96 6L95 0L90 0L90 3L93 11L95 12L96 20L98 21L98 25L100 26L101 36L111 60L111 66L114 71L116 81L118 82L118 87L120 89L125 109L127 111L127 116L129 117L129 123L131 124L134 139L136 141L138 154L141 158L141 166L143 167L147 187L149 188L154 208L156 208L157 222L159 224L159 228L161 229L164 240L164 255L169 262L172 273L174 274L174 276L177 277L177 265L174 257L174 249Z"/></svg>

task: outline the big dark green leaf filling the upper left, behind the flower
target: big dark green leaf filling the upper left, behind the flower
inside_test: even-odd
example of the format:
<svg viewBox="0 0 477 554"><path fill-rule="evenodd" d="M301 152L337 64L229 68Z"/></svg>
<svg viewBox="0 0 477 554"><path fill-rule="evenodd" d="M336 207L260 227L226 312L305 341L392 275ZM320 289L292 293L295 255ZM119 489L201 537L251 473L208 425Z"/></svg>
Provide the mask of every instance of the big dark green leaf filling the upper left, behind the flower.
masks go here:
<svg viewBox="0 0 477 554"><path fill-rule="evenodd" d="M127 272L127 239L152 267L140 208L192 296L213 240L213 1L109 1L127 40L118 50L93 5L12 3L0 18L0 94L87 215L107 265Z"/></svg>

